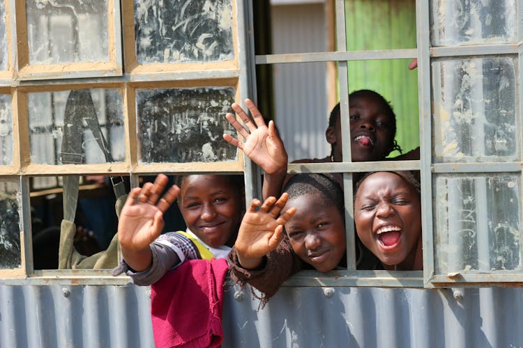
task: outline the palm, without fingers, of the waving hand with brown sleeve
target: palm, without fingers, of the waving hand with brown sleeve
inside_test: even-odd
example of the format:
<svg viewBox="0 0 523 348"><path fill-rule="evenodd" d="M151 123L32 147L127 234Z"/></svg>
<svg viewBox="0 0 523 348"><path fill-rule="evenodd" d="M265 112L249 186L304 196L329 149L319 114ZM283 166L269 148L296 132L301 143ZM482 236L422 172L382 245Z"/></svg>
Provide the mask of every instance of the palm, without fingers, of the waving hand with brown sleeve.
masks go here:
<svg viewBox="0 0 523 348"><path fill-rule="evenodd" d="M243 246L243 250L251 258L266 255L276 247L269 245L269 239L273 237L278 225L276 219L266 212L246 212L235 245L237 248Z"/></svg>

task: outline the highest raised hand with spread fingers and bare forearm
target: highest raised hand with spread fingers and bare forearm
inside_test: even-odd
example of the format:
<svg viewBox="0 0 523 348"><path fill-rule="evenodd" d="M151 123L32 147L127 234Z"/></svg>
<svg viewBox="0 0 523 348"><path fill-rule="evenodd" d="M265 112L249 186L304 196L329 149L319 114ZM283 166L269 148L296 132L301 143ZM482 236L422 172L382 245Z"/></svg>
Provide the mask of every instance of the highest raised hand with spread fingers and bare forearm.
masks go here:
<svg viewBox="0 0 523 348"><path fill-rule="evenodd" d="M245 100L255 124L248 117L241 106L234 103L232 109L240 116L243 123L248 128L245 129L232 113L227 113L225 118L243 136L245 142L236 139L229 134L223 134L223 138L245 152L252 161L264 171L264 185L262 189L263 197L280 196L283 181L287 174L287 151L282 139L276 131L273 121L265 124L263 116L259 112L252 100Z"/></svg>

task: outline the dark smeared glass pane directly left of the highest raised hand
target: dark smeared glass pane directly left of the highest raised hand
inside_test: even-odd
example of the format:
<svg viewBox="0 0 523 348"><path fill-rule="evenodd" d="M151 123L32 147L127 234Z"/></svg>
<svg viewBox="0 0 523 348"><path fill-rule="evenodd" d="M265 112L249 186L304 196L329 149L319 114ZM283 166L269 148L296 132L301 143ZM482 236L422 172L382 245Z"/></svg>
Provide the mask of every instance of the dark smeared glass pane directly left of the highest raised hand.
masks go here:
<svg viewBox="0 0 523 348"><path fill-rule="evenodd" d="M234 161L236 148L222 134L235 90L227 87L137 90L139 161Z"/></svg>

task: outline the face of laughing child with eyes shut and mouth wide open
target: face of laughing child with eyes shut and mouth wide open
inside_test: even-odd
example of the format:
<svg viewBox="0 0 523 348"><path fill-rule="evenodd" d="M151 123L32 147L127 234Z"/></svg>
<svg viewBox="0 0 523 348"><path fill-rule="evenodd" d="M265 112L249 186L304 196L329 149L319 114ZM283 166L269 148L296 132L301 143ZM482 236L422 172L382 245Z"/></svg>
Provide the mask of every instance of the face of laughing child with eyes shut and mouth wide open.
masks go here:
<svg viewBox="0 0 523 348"><path fill-rule="evenodd" d="M414 260L421 235L420 195L400 175L369 175L356 193L354 221L361 242L383 264Z"/></svg>

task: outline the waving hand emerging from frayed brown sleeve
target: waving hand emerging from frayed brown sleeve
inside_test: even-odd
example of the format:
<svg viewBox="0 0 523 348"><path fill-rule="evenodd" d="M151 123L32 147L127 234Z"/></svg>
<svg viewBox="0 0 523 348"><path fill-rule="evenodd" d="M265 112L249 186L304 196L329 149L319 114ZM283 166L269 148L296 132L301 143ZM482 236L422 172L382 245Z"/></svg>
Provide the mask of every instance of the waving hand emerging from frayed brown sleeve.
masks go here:
<svg viewBox="0 0 523 348"><path fill-rule="evenodd" d="M251 201L234 243L241 267L259 267L264 256L280 244L284 237L283 225L296 213L296 208L291 207L280 215L288 199L289 195L283 193L278 200L267 198L263 205L257 199ZM257 210L257 207L260 208Z"/></svg>

